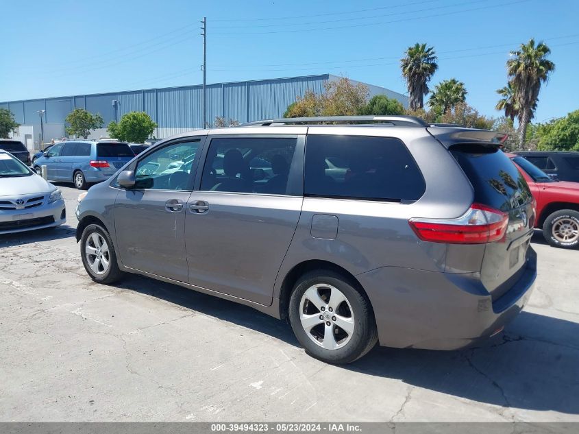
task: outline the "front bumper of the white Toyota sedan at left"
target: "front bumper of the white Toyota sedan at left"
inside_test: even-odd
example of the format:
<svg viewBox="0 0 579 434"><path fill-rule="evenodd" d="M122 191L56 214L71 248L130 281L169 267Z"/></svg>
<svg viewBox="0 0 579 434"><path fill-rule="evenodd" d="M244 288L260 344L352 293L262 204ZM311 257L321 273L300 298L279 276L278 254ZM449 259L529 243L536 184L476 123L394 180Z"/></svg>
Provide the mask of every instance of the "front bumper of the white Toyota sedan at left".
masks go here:
<svg viewBox="0 0 579 434"><path fill-rule="evenodd" d="M0 234L14 234L42 228L53 228L66 222L64 200L45 204L31 210L0 212Z"/></svg>

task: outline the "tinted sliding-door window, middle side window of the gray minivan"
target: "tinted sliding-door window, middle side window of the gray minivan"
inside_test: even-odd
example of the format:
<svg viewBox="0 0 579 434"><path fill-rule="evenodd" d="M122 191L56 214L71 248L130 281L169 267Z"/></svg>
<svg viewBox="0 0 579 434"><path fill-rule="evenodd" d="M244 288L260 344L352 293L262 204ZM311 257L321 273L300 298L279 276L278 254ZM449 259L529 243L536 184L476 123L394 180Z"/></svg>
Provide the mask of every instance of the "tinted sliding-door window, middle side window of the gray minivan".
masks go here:
<svg viewBox="0 0 579 434"><path fill-rule="evenodd" d="M201 190L286 194L297 138L213 138Z"/></svg>

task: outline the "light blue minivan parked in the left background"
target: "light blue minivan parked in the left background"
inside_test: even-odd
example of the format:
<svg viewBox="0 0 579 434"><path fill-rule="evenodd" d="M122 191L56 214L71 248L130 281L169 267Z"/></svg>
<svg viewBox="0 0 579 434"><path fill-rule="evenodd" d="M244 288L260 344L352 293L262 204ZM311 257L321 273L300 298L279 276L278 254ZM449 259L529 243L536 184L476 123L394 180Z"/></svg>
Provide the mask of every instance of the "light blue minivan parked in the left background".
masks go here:
<svg viewBox="0 0 579 434"><path fill-rule="evenodd" d="M107 180L134 158L127 143L116 141L72 140L57 143L36 159L34 169L47 167L49 181L73 182L77 189Z"/></svg>

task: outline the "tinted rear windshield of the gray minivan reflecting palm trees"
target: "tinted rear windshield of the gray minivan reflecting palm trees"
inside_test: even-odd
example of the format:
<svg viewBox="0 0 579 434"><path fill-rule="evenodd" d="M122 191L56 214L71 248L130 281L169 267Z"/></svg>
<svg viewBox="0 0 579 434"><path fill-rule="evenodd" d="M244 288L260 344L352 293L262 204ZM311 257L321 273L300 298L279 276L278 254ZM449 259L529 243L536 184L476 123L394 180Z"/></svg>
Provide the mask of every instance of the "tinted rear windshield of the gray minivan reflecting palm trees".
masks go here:
<svg viewBox="0 0 579 434"><path fill-rule="evenodd" d="M532 201L519 169L496 145L454 145L450 152L474 189L474 201L509 211Z"/></svg>

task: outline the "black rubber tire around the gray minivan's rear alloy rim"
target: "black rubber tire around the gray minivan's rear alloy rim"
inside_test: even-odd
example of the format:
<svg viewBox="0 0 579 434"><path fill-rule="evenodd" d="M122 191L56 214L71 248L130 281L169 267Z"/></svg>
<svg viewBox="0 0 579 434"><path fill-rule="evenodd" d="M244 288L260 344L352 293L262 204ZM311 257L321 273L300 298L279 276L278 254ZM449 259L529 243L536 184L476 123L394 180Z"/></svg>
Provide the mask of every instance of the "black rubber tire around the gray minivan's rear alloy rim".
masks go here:
<svg viewBox="0 0 579 434"><path fill-rule="evenodd" d="M301 325L299 316L301 298L310 287L318 284L331 285L341 291L349 306L352 307L351 313L354 316L354 331L352 336L349 338L349 341L345 342L341 348L332 350L323 348L321 344L318 344L313 340L313 337L310 337L312 334L306 332L304 326ZM318 291L318 293L320 292ZM319 311L319 309L315 308L313 305L311 307L308 306L308 309ZM322 312L319 311L319 313ZM297 280L290 297L288 317L293 333L295 334L295 337L297 337L299 343L301 343L301 346L304 347L304 350L306 350L306 353L311 357L315 357L315 359L319 359L326 363L336 365L352 363L369 352L369 350L375 346L376 341L378 341L378 332L376 330L374 314L369 300L367 300L367 298L360 293L360 291L358 291L358 289L356 289L347 278L330 270L321 269L308 272ZM322 322L317 327L324 327L324 323ZM317 330L319 330L319 328ZM317 330L312 328L312 332L314 333L317 333ZM341 329L339 328L338 331L336 331L334 324L332 324L332 330L334 330L335 333L341 333Z"/></svg>

